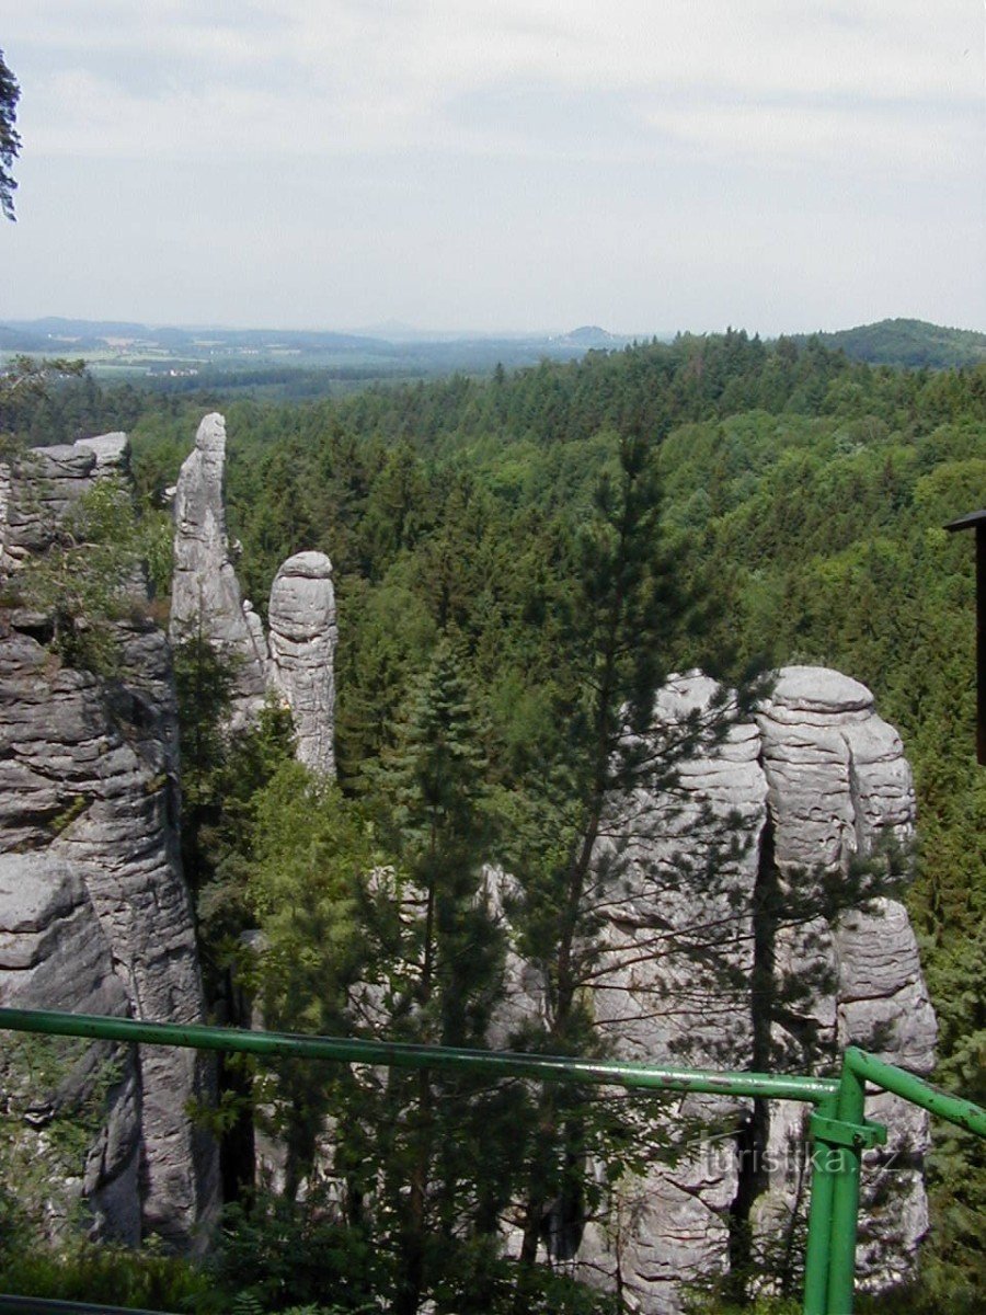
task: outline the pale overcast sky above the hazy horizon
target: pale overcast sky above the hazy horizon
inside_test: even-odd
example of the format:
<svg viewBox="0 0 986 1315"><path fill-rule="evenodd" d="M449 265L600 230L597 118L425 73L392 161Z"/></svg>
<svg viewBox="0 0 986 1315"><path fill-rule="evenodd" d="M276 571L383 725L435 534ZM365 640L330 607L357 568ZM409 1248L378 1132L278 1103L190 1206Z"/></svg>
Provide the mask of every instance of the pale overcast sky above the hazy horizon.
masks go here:
<svg viewBox="0 0 986 1315"><path fill-rule="evenodd" d="M0 0L0 318L986 330L983 0Z"/></svg>

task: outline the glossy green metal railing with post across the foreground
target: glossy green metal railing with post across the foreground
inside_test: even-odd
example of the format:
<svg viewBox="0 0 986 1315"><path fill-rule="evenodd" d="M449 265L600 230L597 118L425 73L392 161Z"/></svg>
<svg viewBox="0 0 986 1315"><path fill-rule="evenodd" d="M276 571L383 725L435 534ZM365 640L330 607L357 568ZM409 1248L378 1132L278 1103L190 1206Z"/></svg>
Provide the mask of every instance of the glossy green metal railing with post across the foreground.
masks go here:
<svg viewBox="0 0 986 1315"><path fill-rule="evenodd" d="M617 1060L463 1051L334 1036L292 1036L25 1009L0 1009L0 1030L138 1041L145 1045L181 1045L268 1059L292 1056L390 1068L455 1068L490 1080L519 1077L540 1082L622 1086L628 1090L801 1101L814 1106L809 1124L814 1149L805 1256L805 1315L852 1315L860 1164L864 1151L886 1141L886 1127L865 1118L866 1082L986 1136L986 1110L940 1091L914 1074L852 1047L843 1056L841 1074L828 1078L715 1073Z"/></svg>

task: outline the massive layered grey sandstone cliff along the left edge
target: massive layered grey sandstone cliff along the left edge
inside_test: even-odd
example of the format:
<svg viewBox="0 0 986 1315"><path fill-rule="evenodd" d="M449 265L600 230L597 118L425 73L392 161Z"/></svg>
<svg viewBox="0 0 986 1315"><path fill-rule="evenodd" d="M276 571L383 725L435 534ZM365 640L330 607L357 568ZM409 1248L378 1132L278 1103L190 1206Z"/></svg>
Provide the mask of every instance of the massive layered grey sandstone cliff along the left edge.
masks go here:
<svg viewBox="0 0 986 1315"><path fill-rule="evenodd" d="M122 435L103 435L20 463L8 475L8 572L125 462ZM45 644L43 615L13 606L0 622L0 1001L201 1020L166 636L135 606L118 623L108 679L63 664ZM80 1097L93 1063L76 1064L55 1105ZM79 1191L108 1233L133 1237L139 1220L188 1245L217 1201L214 1144L187 1115L210 1090L210 1065L155 1047L124 1051L120 1064Z"/></svg>

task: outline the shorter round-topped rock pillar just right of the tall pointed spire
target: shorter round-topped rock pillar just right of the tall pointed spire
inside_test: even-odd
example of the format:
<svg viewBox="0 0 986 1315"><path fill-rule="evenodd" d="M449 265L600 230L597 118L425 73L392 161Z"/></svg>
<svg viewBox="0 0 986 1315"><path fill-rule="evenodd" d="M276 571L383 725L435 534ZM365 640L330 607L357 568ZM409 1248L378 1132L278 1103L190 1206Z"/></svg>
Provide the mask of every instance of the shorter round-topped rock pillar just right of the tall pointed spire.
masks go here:
<svg viewBox="0 0 986 1315"><path fill-rule="evenodd" d="M325 776L335 775L337 642L333 564L323 552L288 558L271 586L270 680L294 721L297 757Z"/></svg>

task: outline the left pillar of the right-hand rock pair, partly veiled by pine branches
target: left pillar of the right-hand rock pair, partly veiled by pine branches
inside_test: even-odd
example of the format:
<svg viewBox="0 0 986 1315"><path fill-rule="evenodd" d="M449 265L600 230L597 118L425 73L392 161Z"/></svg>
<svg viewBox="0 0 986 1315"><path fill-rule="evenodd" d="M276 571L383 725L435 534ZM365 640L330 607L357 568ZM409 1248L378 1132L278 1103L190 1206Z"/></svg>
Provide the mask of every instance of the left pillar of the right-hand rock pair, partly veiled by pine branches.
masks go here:
<svg viewBox="0 0 986 1315"><path fill-rule="evenodd" d="M705 677L673 680L655 705L655 735L673 738L690 714L710 707ZM670 796L646 790L614 801L607 828L621 852L619 880L605 909L605 952L594 982L599 1030L619 1059L697 1068L745 1068L753 1048L752 899L766 782L760 739L736 725L722 742L710 729L701 756L681 763ZM660 839L657 839L660 838ZM665 1131L735 1127L741 1102L677 1098ZM677 1308L685 1274L724 1273L728 1207L739 1185L731 1143L697 1141L670 1168L626 1178L614 1220L586 1236L589 1265L623 1291L631 1310ZM602 1245L601 1245L602 1243Z"/></svg>

